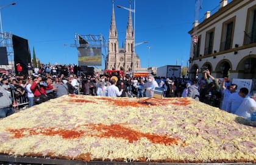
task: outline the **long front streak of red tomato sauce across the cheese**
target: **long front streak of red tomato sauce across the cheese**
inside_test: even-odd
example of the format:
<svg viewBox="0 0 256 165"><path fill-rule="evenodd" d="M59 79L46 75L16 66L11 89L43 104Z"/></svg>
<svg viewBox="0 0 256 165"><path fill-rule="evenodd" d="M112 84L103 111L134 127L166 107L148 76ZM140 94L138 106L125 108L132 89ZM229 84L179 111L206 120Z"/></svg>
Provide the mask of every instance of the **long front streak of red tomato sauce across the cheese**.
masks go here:
<svg viewBox="0 0 256 165"><path fill-rule="evenodd" d="M85 127L85 130L81 128ZM62 136L63 139L74 139L82 136L96 136L99 138L121 138L126 139L130 143L138 141L140 138L147 138L152 143L165 144L170 146L172 144L177 145L179 138L171 138L166 135L157 135L155 133L142 133L131 128L123 127L119 124L105 125L105 124L87 124L80 125L73 130L67 130L63 128L20 128L20 129L8 129L10 133L13 133L12 138L23 138L30 135L43 135L43 136ZM96 132L95 132L96 131ZM88 132L95 132L88 134Z"/></svg>

